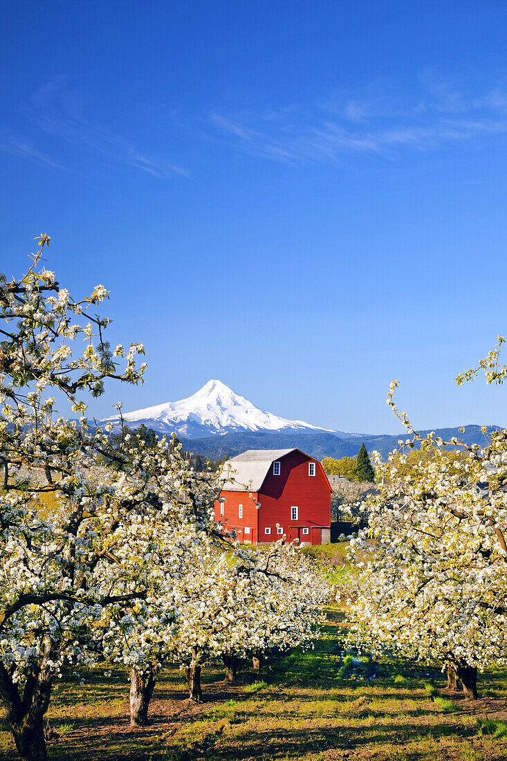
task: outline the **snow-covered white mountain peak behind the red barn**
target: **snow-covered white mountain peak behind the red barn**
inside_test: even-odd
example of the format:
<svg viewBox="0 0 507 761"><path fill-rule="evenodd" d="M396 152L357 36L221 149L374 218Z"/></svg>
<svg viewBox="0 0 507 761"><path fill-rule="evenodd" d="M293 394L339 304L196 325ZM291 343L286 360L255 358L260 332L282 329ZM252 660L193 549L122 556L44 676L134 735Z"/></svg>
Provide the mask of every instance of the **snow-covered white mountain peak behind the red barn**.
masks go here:
<svg viewBox="0 0 507 761"><path fill-rule="evenodd" d="M328 430L302 420L285 420L272 412L263 412L220 380L209 380L187 399L126 412L123 418L132 428L144 423L159 433L176 431L187 438L232 431ZM113 416L100 422L118 420L118 416Z"/></svg>

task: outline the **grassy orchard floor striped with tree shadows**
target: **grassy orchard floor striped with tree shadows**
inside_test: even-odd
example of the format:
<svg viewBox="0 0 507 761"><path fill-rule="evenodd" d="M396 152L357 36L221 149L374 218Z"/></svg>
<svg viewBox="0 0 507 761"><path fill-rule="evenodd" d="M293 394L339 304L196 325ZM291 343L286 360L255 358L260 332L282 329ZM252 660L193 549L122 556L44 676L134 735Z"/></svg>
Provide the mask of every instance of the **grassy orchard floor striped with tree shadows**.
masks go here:
<svg viewBox="0 0 507 761"><path fill-rule="evenodd" d="M468 702L444 689L438 671L358 659L344 665L340 614L330 610L329 618L314 651L296 651L260 676L244 672L238 686L224 686L222 670L210 667L201 705L186 701L178 670L164 672L145 728L129 726L126 673L94 670L82 675L85 686L76 677L62 680L47 713L49 759L507 759L507 673L481 675L483 697ZM424 688L430 678L437 702ZM497 722L489 732L505 737L481 734L485 718ZM2 719L0 758L16 757Z"/></svg>

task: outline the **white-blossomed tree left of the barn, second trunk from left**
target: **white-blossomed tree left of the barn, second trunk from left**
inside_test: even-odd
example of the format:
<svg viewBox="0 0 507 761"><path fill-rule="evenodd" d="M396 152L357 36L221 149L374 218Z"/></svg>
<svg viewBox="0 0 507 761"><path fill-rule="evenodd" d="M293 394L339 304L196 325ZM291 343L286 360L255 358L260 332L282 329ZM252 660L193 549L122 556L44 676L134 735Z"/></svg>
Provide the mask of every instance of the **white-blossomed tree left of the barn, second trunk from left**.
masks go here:
<svg viewBox="0 0 507 761"><path fill-rule="evenodd" d="M195 473L173 440L167 445L163 438L155 447L145 448L142 441L131 447L128 439L126 435L118 453L130 463L120 482L128 486L131 502L147 503L143 516L149 505L157 514L150 528L153 583L151 594L131 608L121 603L104 608L93 644L104 658L130 668L131 723L145 724L158 670L174 652L174 630L185 615L181 590L193 588L196 564L210 548L225 558L231 544L215 530L213 521L216 475ZM201 592L200 602L206 607L206 590Z"/></svg>

